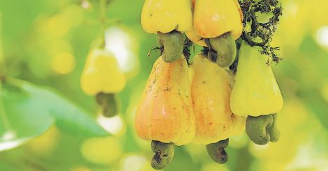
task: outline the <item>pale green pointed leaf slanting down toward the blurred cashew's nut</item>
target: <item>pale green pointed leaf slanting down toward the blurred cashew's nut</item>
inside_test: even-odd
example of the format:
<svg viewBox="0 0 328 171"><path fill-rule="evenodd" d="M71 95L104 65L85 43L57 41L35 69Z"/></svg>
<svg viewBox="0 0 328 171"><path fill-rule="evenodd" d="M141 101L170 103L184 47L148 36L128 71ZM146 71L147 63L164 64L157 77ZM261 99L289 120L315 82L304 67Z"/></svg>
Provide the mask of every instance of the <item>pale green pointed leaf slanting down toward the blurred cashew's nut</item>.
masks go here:
<svg viewBox="0 0 328 171"><path fill-rule="evenodd" d="M70 133L86 136L108 136L108 133L81 108L60 95L56 90L40 88L31 83L22 84L24 91L33 95L34 101L42 105L56 120L57 126Z"/></svg>

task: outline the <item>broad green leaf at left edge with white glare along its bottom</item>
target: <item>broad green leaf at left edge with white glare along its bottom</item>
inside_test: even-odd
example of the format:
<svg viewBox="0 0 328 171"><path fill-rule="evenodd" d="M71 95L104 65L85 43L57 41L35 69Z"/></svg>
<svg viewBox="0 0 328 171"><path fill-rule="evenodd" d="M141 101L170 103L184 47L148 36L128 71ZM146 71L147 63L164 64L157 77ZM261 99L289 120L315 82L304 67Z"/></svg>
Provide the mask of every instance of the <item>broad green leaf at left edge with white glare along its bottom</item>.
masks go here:
<svg viewBox="0 0 328 171"><path fill-rule="evenodd" d="M3 101L0 106L0 151L24 144L53 124L49 113L38 108L30 97L15 89L3 89L0 95Z"/></svg>

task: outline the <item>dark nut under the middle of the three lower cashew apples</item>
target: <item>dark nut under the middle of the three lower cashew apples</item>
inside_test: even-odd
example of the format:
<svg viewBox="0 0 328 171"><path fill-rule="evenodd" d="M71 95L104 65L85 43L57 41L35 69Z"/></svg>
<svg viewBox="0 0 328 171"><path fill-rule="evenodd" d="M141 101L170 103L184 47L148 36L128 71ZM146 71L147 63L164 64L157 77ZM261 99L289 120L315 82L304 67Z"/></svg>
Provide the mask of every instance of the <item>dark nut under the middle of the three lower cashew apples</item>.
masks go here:
<svg viewBox="0 0 328 171"><path fill-rule="evenodd" d="M216 163L223 164L228 161L228 154L225 152L225 147L229 144L229 139L206 145L207 153Z"/></svg>

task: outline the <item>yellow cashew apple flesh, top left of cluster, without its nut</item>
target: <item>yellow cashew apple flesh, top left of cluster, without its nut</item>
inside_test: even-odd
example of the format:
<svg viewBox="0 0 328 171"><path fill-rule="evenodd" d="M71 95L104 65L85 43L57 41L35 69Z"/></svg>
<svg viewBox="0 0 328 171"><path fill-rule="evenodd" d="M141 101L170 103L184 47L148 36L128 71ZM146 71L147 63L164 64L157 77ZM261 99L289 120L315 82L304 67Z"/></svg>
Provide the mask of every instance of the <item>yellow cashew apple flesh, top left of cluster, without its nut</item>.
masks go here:
<svg viewBox="0 0 328 171"><path fill-rule="evenodd" d="M193 26L191 0L146 0L141 24L147 33L188 31Z"/></svg>

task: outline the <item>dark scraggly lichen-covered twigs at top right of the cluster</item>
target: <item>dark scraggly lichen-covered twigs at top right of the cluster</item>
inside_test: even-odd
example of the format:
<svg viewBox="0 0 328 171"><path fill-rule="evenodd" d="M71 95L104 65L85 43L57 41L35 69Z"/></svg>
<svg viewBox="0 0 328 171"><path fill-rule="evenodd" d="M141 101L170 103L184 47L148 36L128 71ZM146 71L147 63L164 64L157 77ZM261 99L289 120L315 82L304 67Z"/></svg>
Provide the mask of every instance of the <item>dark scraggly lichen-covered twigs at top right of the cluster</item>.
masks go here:
<svg viewBox="0 0 328 171"><path fill-rule="evenodd" d="M262 47L262 54L271 56L278 63L282 60L279 47L271 47L271 40L277 30L282 7L279 0L238 0L244 14L244 31L241 39L251 46ZM269 17L266 22L259 16Z"/></svg>

